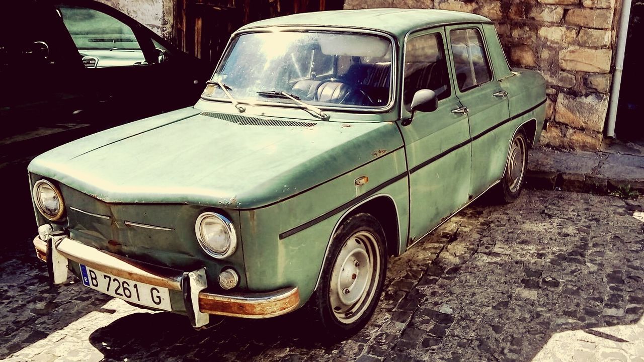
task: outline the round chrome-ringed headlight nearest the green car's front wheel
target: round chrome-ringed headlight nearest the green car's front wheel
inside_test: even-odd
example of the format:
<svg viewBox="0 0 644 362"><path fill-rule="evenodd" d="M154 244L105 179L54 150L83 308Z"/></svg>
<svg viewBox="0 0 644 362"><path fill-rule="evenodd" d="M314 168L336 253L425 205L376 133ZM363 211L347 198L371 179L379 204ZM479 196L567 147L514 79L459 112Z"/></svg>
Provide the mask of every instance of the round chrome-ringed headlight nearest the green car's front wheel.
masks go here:
<svg viewBox="0 0 644 362"><path fill-rule="evenodd" d="M215 258L230 256L237 247L231 220L216 213L203 213L194 224L194 233L205 252Z"/></svg>

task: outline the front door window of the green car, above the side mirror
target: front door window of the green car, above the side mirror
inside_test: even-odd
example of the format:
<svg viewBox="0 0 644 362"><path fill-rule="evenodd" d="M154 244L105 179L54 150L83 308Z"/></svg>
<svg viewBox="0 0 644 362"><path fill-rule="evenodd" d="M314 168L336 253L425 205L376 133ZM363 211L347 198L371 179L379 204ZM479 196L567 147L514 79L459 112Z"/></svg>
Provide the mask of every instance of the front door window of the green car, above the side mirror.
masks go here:
<svg viewBox="0 0 644 362"><path fill-rule="evenodd" d="M433 90L439 100L450 97L450 77L440 33L421 35L407 41L403 89L403 104L407 110L411 110L413 95L418 90Z"/></svg>

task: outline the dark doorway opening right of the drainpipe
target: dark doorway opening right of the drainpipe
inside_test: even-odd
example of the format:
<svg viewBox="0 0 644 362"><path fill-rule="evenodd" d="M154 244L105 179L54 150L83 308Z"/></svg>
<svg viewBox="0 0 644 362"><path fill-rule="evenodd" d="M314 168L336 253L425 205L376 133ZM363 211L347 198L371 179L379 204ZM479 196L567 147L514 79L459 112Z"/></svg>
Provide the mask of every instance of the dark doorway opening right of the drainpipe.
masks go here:
<svg viewBox="0 0 644 362"><path fill-rule="evenodd" d="M638 143L644 142L644 66L641 64L641 39L644 39L644 0L633 0L615 135L618 139Z"/></svg>

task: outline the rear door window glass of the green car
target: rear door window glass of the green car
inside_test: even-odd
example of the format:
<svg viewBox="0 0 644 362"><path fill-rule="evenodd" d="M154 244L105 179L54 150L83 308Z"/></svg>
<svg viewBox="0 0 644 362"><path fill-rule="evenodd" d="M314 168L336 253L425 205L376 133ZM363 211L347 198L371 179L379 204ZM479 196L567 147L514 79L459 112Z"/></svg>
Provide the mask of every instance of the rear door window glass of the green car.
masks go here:
<svg viewBox="0 0 644 362"><path fill-rule="evenodd" d="M491 81L488 55L478 29L452 30L450 39L459 90L465 91Z"/></svg>

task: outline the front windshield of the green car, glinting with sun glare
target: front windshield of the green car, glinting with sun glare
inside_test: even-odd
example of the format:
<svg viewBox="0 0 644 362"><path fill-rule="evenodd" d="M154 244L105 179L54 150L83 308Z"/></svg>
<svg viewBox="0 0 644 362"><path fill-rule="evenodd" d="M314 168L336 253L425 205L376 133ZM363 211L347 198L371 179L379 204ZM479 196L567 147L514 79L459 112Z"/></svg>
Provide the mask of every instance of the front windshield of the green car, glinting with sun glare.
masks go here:
<svg viewBox="0 0 644 362"><path fill-rule="evenodd" d="M259 32L233 39L213 81L242 102L293 104L285 92L316 106L381 108L390 102L392 43L341 32ZM204 99L227 100L210 86Z"/></svg>

